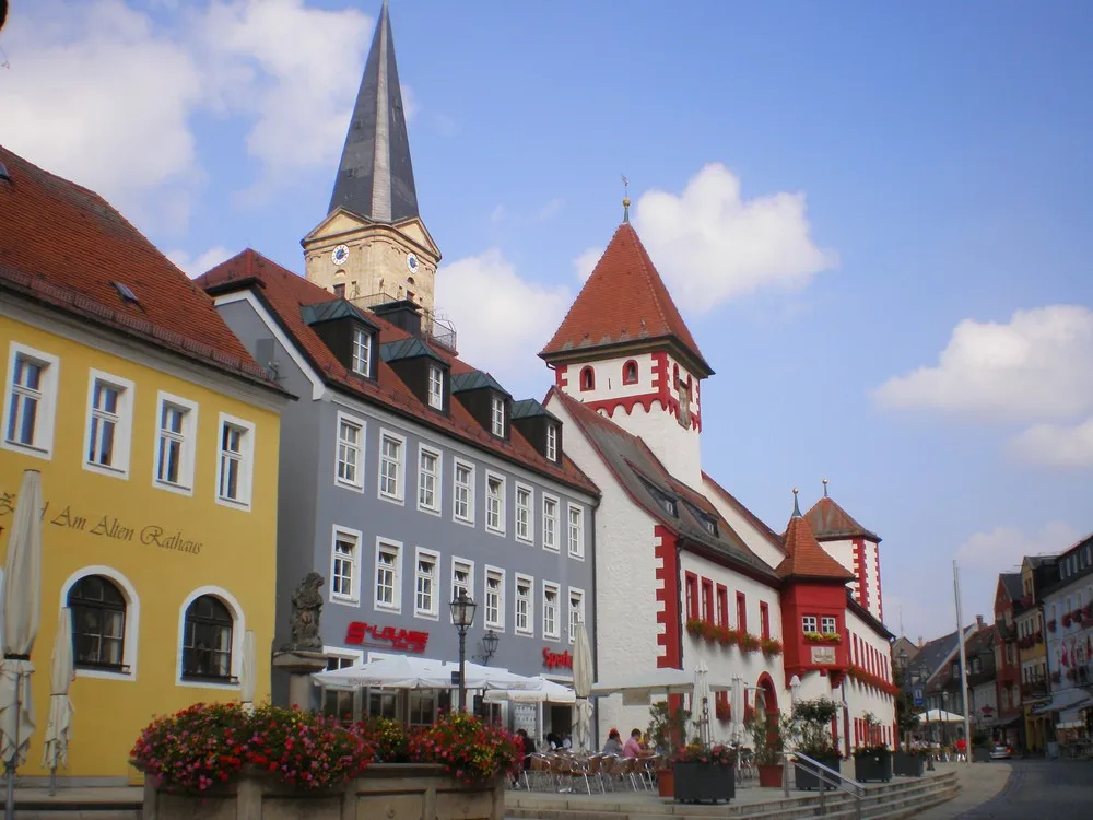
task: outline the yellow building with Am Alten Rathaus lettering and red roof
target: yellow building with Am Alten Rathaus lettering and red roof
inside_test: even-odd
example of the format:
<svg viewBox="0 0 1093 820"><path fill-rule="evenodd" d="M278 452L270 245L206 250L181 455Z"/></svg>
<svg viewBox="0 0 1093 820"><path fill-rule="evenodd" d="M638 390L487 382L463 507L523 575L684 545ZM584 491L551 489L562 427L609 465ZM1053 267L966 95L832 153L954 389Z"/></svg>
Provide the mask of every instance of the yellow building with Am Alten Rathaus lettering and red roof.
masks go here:
<svg viewBox="0 0 1093 820"><path fill-rule="evenodd" d="M287 397L211 303L96 195L0 148L0 560L42 473L37 728L71 612L61 777L130 778L157 714L239 696L255 633L269 694L280 409Z"/></svg>

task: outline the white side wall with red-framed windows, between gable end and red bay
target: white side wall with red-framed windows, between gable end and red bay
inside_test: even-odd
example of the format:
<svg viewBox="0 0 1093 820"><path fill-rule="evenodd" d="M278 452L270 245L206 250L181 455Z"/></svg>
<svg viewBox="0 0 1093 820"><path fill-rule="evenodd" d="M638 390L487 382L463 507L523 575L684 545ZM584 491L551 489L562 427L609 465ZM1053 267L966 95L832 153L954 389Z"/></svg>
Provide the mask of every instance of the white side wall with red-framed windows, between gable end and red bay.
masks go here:
<svg viewBox="0 0 1093 820"><path fill-rule="evenodd" d="M722 584L729 593L729 625L739 629L737 623L737 593L743 593L747 598L748 631L753 635L761 635L762 621L760 620L759 605L765 601L771 612L771 637L781 640L781 605L778 593L757 581L745 575L732 572L728 567L715 564L700 555L683 552L680 555L681 577L687 572L692 572L700 577L709 578L714 582L714 606L717 606L717 585ZM700 596L702 586L700 584ZM682 611L680 617L686 622L686 596L680 596ZM716 617L716 616L715 616ZM709 680L730 683L734 676L744 679L747 687L754 687L759 682L760 676L767 672L774 680L775 691L778 694L778 707L783 711L789 710L789 690L786 689L786 673L780 655L767 658L762 652L742 653L739 647L724 647L719 644L710 644L701 637L694 637L685 630L683 632L683 668L694 669L698 659L706 661L709 667ZM755 703L754 692L745 692L745 702L749 705ZM694 710L697 713L697 707ZM731 724L722 724L717 719L715 704L709 704L709 721L713 736L718 740L729 740Z"/></svg>

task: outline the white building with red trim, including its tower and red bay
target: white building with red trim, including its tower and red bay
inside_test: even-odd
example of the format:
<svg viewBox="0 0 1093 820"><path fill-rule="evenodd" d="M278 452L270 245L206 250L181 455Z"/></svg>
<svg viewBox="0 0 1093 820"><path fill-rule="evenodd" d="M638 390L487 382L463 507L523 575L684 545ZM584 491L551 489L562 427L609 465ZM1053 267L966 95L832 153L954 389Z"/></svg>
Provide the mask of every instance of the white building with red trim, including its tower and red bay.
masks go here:
<svg viewBox="0 0 1093 820"><path fill-rule="evenodd" d="M880 539L826 495L779 535L703 472L701 384L714 374L637 233L624 222L540 356L565 454L600 488L597 677L656 668L743 677L744 721L800 696L845 702L845 752L892 742L891 633ZM727 738L728 699L713 733ZM599 741L649 722L646 702L601 698ZM875 722L875 723L874 723Z"/></svg>

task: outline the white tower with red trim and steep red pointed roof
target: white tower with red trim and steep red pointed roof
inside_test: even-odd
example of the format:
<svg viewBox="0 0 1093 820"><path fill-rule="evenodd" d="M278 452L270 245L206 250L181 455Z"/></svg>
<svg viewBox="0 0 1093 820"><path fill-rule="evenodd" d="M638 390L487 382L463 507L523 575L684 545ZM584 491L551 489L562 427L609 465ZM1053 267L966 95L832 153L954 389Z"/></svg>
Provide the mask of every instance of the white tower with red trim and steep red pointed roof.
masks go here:
<svg viewBox="0 0 1093 820"><path fill-rule="evenodd" d="M702 484L701 382L713 375L625 215L539 355L555 386L640 437L668 470Z"/></svg>

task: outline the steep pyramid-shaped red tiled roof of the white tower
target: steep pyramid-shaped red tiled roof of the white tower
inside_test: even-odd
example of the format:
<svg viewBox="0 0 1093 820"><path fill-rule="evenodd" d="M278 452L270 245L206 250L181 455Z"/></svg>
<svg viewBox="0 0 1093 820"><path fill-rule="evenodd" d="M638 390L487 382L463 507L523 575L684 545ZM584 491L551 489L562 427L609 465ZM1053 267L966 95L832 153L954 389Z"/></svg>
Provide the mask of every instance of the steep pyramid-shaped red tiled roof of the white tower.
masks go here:
<svg viewBox="0 0 1093 820"><path fill-rule="evenodd" d="M703 375L713 372L637 233L624 222L539 355L551 359L643 339L674 339L706 370Z"/></svg>

